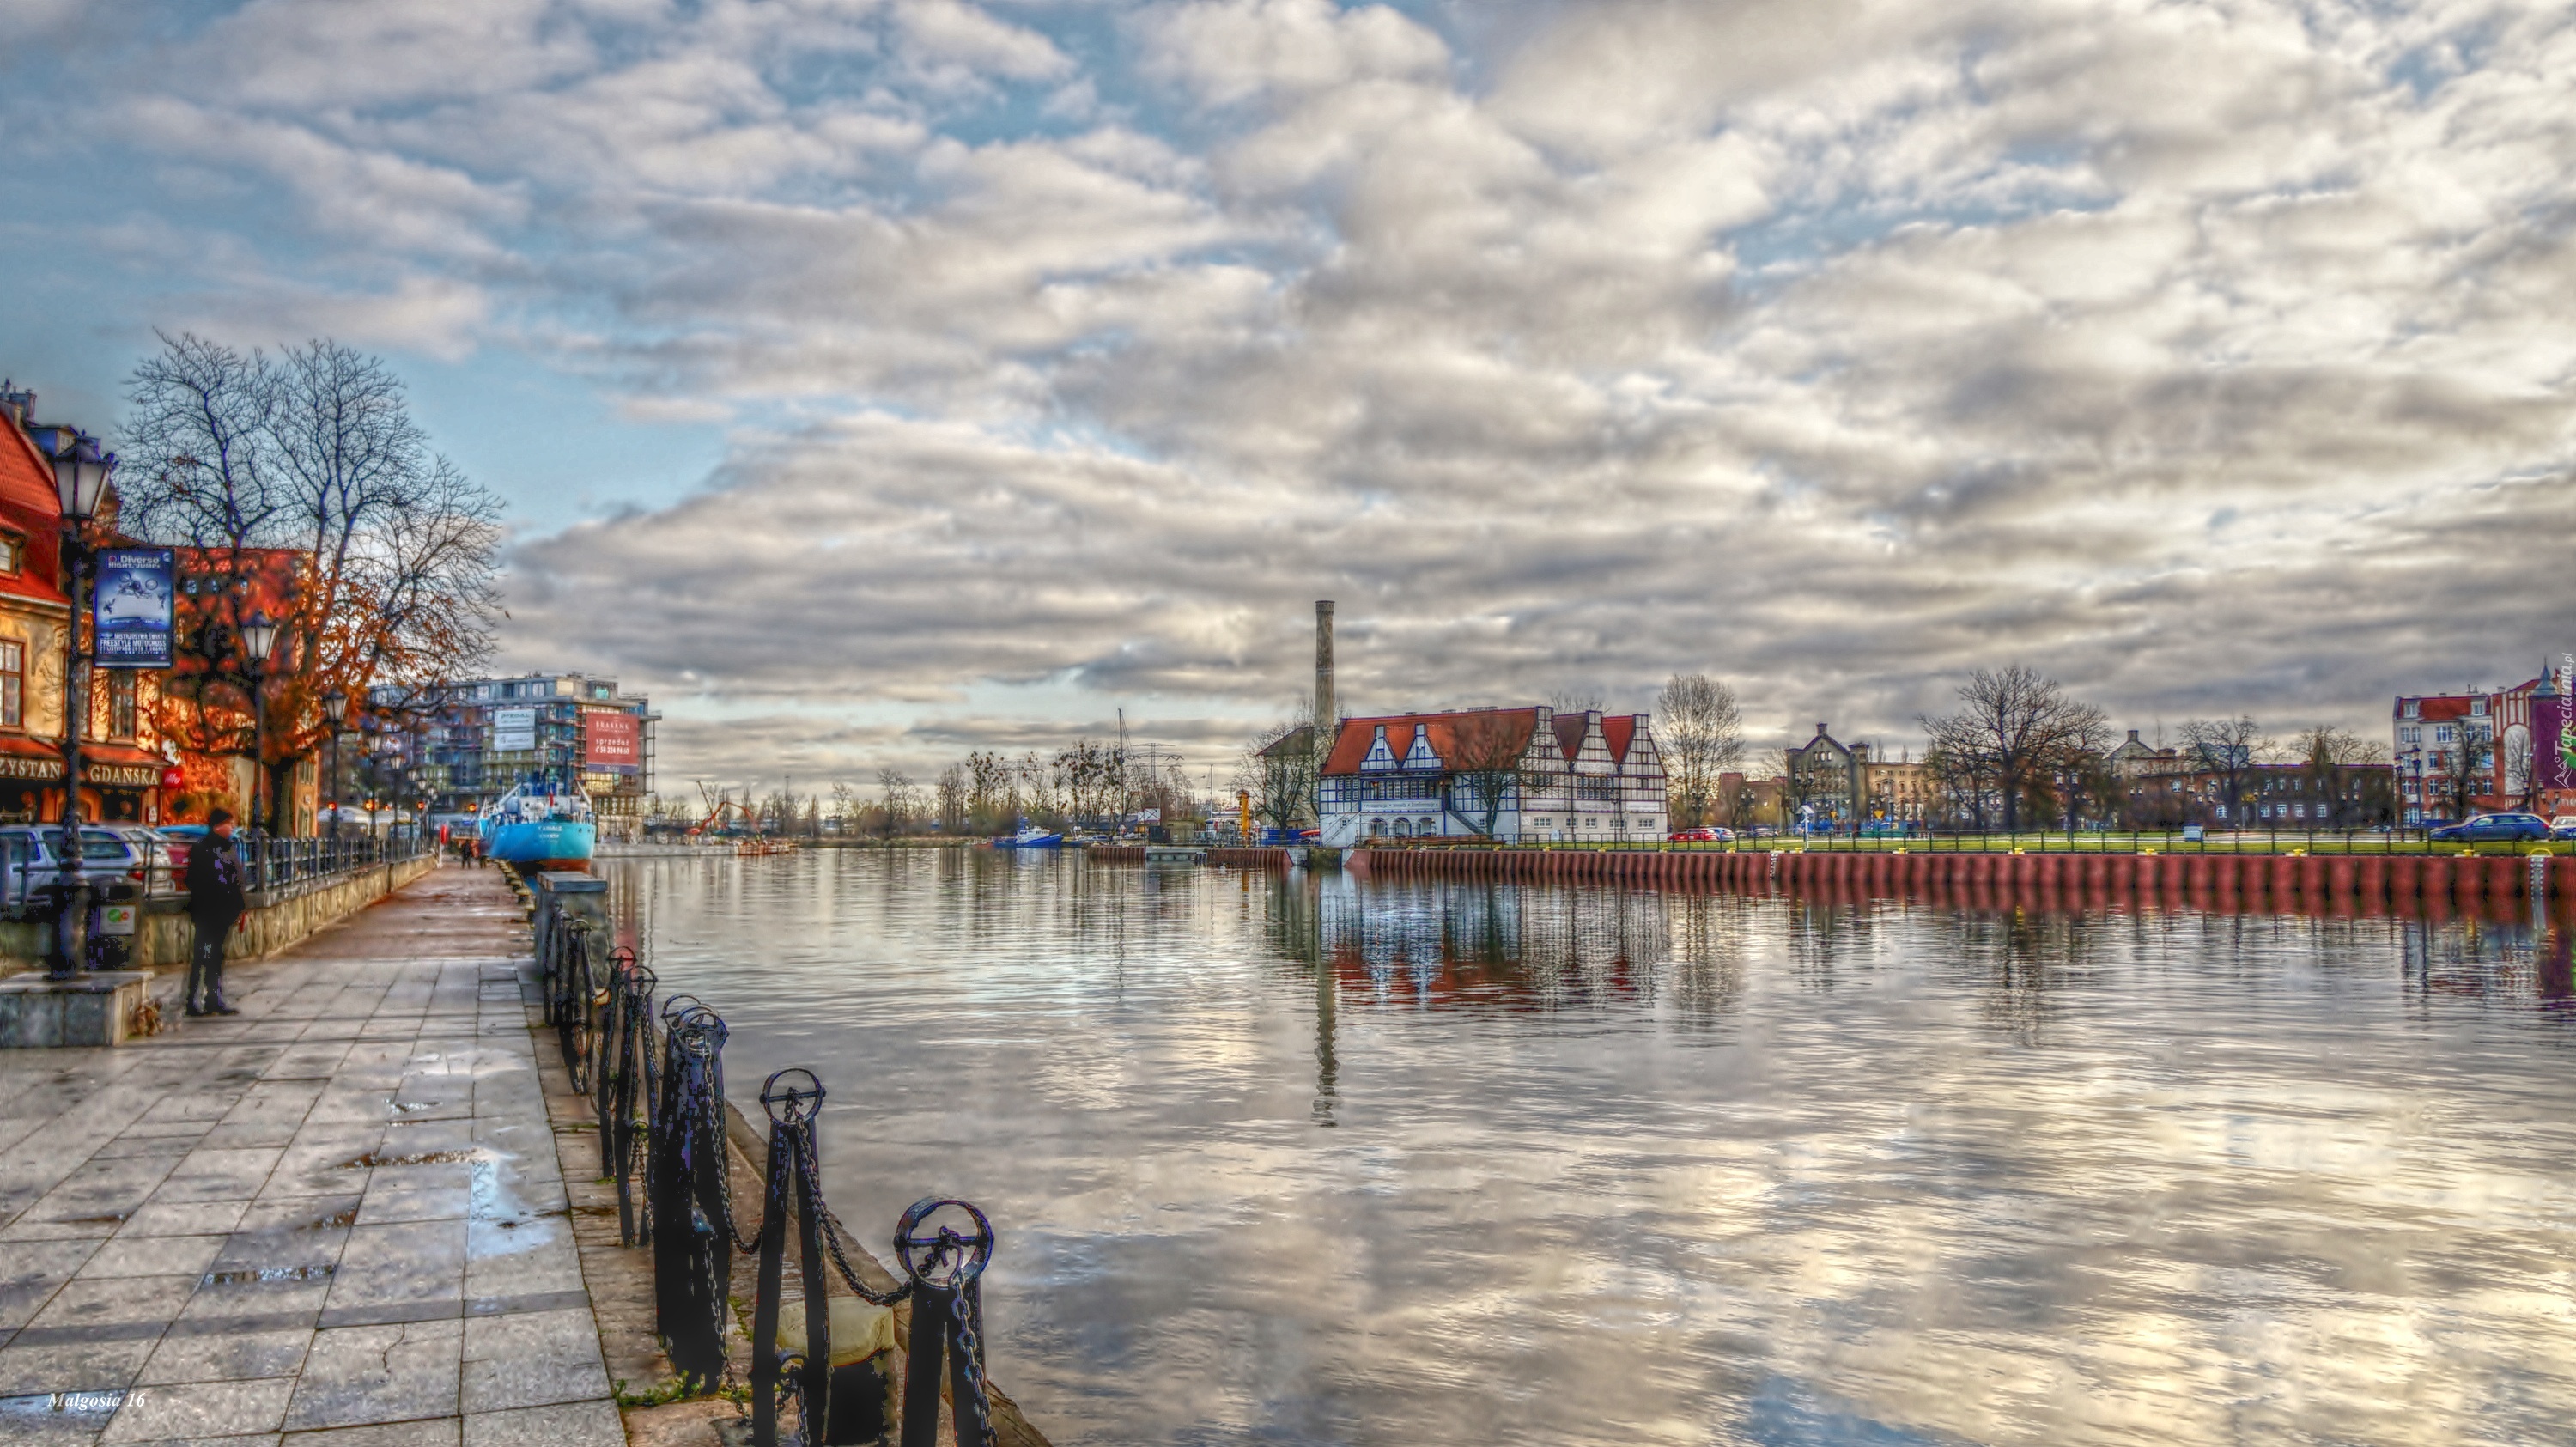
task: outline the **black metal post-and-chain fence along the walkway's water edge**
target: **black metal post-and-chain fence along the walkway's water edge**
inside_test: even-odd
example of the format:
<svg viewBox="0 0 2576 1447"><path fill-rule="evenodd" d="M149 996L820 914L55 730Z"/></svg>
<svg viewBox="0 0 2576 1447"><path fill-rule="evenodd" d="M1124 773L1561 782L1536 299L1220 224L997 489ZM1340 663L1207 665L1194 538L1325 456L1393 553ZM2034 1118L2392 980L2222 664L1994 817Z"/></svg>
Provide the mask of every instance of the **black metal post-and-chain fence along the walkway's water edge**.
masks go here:
<svg viewBox="0 0 2576 1447"><path fill-rule="evenodd" d="M824 1087L811 1071L788 1069L760 1087L762 1200L757 1226L742 1231L726 1159L724 1020L690 996L654 1009L654 973L623 948L603 958L587 919L541 929L538 940L546 1020L574 1089L598 1112L600 1174L618 1190L618 1236L654 1254L654 1326L680 1390L732 1385L724 1318L734 1254L747 1251L757 1280L747 1383L755 1447L876 1442L889 1426L889 1390L899 1401L899 1447L940 1442L943 1396L951 1439L994 1447L981 1287L992 1220L963 1200L920 1200L894 1228L904 1280L884 1272L871 1280L866 1262L853 1264L822 1197L814 1117ZM899 1383L878 1367L884 1352L835 1362L835 1277L863 1303L909 1303Z"/></svg>

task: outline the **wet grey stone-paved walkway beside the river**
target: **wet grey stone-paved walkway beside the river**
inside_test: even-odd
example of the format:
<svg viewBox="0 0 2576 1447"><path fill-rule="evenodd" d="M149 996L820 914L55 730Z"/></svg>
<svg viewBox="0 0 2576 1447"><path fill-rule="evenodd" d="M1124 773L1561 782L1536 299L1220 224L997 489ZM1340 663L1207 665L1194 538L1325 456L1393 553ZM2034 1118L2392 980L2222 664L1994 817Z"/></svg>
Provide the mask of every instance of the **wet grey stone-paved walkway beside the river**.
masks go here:
<svg viewBox="0 0 2576 1447"><path fill-rule="evenodd" d="M446 868L240 1017L0 1053L0 1442L621 1447L526 955Z"/></svg>

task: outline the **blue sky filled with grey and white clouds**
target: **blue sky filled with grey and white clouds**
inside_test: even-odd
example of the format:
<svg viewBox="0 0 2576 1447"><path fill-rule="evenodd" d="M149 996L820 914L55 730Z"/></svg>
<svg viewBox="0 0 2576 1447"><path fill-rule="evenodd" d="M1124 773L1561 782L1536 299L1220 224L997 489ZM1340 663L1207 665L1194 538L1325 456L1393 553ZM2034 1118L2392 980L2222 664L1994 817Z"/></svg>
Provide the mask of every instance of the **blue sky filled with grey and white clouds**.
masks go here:
<svg viewBox="0 0 2576 1447"><path fill-rule="evenodd" d="M1757 742L2576 649L2566 5L13 0L0 134L0 371L384 353L665 783L1213 762L1316 597Z"/></svg>

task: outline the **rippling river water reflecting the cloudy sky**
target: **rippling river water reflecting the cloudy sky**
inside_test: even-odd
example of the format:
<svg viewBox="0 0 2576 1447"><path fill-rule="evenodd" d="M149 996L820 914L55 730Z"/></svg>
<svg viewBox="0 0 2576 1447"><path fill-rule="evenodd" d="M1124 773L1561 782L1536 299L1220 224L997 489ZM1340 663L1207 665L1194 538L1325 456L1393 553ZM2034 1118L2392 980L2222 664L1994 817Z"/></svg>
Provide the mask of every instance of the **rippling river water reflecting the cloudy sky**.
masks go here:
<svg viewBox="0 0 2576 1447"><path fill-rule="evenodd" d="M2568 1442L2537 922L613 860L1059 1444Z"/></svg>

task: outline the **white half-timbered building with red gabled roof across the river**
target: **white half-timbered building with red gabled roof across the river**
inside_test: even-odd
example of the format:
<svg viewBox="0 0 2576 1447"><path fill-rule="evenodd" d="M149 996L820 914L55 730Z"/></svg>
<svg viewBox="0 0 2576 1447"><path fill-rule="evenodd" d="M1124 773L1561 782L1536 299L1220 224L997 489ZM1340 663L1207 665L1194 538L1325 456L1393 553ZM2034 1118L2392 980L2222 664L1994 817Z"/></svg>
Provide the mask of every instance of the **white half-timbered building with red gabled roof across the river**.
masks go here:
<svg viewBox="0 0 2576 1447"><path fill-rule="evenodd" d="M1522 742L1517 770L1492 767L1504 731ZM1504 845L1664 839L1664 760L1646 713L1473 708L1345 718L1316 778L1321 842L1484 839L1476 780L1497 778L1492 839Z"/></svg>

